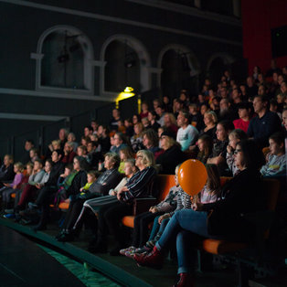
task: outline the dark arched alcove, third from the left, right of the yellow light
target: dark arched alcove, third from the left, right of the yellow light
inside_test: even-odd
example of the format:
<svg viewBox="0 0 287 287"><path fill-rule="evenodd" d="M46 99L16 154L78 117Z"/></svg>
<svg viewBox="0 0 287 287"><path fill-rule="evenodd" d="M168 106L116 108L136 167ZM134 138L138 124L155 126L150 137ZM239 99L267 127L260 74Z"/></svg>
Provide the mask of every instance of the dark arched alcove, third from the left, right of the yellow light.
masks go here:
<svg viewBox="0 0 287 287"><path fill-rule="evenodd" d="M160 52L157 67L162 69L158 85L170 98L181 89L197 90L199 62L189 48L177 44L166 46Z"/></svg>

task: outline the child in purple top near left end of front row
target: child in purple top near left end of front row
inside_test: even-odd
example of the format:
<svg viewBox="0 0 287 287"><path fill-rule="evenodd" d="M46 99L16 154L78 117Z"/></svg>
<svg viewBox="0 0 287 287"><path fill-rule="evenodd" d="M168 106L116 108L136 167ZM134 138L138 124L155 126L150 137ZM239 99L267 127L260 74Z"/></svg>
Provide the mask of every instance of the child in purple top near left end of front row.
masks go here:
<svg viewBox="0 0 287 287"><path fill-rule="evenodd" d="M5 208L8 207L8 203L10 203L11 195L15 193L16 188L19 188L21 185L21 181L23 179L23 171L24 165L20 162L14 164L14 180L11 184L4 183L3 187L0 188L0 195L2 197L2 203Z"/></svg>

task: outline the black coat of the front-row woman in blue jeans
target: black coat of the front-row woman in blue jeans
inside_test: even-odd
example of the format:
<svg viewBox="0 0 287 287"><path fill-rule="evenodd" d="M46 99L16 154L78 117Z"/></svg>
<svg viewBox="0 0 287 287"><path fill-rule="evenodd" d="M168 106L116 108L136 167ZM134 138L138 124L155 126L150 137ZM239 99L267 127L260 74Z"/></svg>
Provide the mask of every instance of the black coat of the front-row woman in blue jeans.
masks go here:
<svg viewBox="0 0 287 287"><path fill-rule="evenodd" d="M259 171L245 169L239 172L223 186L221 200L203 206L203 210L209 211L208 233L235 234L241 239L250 236L250 225L242 215L263 209L266 200L262 190Z"/></svg>

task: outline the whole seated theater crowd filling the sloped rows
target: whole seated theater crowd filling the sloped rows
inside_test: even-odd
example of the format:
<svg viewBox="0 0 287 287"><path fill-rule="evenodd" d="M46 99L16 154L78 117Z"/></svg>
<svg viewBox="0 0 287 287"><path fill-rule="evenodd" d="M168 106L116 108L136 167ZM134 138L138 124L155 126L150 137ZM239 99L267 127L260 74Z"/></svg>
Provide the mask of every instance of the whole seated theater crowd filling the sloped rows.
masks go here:
<svg viewBox="0 0 287 287"><path fill-rule="evenodd" d="M262 208L262 176L286 176L287 67L272 67L268 76L255 67L241 83L226 70L217 86L206 79L197 97L188 90L175 99L164 95L152 107L143 102L142 112L131 119L114 109L109 126L91 121L79 142L60 129L45 154L27 140L22 161L14 163L5 154L0 168L4 217L43 230L50 205L57 209L69 203L58 241L79 237L85 222L93 232L90 252L106 252L110 233L116 242L111 255L155 268L175 242L175 286L191 286L190 242L198 235L250 237L237 216ZM207 166L207 184L197 197L188 196L177 180L188 158ZM175 174L175 186L164 201L135 217L133 239L128 239L121 219L133 213L133 198L154 196L156 174ZM233 178L221 188L223 175ZM212 216L210 210L216 210Z"/></svg>

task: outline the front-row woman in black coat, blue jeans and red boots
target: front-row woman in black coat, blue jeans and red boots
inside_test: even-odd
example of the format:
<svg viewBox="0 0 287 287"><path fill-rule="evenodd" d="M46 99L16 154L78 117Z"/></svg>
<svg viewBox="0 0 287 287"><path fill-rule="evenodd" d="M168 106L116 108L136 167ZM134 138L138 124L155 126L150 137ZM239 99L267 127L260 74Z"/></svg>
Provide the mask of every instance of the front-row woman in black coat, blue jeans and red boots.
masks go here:
<svg viewBox="0 0 287 287"><path fill-rule="evenodd" d="M171 218L161 238L155 243L154 250L144 255L134 255L141 266L161 268L164 263L165 250L176 239L179 282L177 286L192 286L196 256L190 251L190 242L197 236L225 239L236 236L237 239L252 240L255 230L246 224L241 213L256 212L264 207L261 197L261 180L259 168L264 159L256 143L242 141L236 147L237 165L240 172L223 187L221 200L209 204L197 204L195 209L183 209ZM210 210L213 209L210 215ZM197 212L201 211L201 212ZM190 224L193 222L193 224ZM189 232L186 232L189 231ZM179 285L180 284L180 285Z"/></svg>

